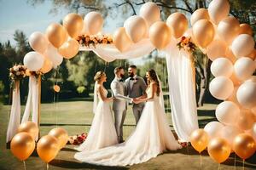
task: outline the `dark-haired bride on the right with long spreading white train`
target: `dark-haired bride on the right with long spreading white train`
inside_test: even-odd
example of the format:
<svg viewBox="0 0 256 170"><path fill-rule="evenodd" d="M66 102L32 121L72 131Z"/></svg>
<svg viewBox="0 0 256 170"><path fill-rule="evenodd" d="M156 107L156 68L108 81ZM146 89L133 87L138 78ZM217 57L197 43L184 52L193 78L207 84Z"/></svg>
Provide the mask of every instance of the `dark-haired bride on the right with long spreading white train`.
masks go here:
<svg viewBox="0 0 256 170"><path fill-rule="evenodd" d="M155 71L149 70L146 77L146 95L133 99L134 103L146 102L146 105L131 136L122 144L76 153L74 157L77 160L106 166L126 166L148 161L165 150L181 148L166 121L160 82Z"/></svg>

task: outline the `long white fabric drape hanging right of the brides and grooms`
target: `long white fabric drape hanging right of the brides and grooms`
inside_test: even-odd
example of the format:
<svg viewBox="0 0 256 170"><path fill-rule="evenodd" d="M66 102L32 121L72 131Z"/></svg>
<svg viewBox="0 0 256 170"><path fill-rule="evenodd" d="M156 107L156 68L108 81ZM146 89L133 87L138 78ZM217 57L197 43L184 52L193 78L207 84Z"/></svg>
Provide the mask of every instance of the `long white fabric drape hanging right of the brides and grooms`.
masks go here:
<svg viewBox="0 0 256 170"><path fill-rule="evenodd" d="M164 50L168 71L169 96L172 106L172 122L181 141L189 141L189 135L198 128L193 69L189 54L177 48L177 41Z"/></svg>

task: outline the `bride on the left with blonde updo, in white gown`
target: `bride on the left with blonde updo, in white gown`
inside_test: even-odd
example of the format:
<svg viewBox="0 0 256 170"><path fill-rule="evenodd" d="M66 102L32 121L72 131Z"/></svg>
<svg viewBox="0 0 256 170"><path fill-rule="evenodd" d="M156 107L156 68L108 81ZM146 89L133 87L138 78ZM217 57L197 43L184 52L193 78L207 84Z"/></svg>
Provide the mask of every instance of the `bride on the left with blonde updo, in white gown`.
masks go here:
<svg viewBox="0 0 256 170"><path fill-rule="evenodd" d="M113 124L113 116L110 110L109 102L112 98L107 98L108 90L104 88L103 82L106 82L107 77L103 71L96 72L94 77L95 96L94 96L94 113L95 116L91 123L90 131L83 144L79 145L76 150L87 153L90 150L99 150L103 147L118 144L117 134ZM97 104L96 99L99 98Z"/></svg>

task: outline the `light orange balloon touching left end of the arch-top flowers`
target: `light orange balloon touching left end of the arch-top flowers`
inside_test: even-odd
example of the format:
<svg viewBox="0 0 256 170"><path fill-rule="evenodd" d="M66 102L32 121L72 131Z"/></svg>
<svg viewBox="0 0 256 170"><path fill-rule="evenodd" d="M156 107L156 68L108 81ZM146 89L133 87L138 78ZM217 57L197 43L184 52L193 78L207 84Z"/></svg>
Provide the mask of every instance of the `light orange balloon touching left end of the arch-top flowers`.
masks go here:
<svg viewBox="0 0 256 170"><path fill-rule="evenodd" d="M79 42L75 39L70 39L63 43L58 51L64 58L71 59L79 53Z"/></svg>

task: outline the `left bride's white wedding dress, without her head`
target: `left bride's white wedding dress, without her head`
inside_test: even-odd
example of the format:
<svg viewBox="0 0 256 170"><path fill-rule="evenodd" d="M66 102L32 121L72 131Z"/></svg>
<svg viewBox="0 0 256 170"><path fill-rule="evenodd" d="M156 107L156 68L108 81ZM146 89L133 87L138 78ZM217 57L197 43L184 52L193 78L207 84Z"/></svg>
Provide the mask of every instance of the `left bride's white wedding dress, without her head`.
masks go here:
<svg viewBox="0 0 256 170"><path fill-rule="evenodd" d="M103 88L103 94L107 97L108 90ZM98 97L99 102L96 105L95 116L91 123L88 136L83 144L75 148L76 150L83 151L82 153L118 144L109 102L104 102L98 92L96 92L96 97Z"/></svg>

